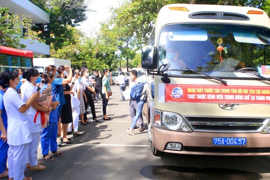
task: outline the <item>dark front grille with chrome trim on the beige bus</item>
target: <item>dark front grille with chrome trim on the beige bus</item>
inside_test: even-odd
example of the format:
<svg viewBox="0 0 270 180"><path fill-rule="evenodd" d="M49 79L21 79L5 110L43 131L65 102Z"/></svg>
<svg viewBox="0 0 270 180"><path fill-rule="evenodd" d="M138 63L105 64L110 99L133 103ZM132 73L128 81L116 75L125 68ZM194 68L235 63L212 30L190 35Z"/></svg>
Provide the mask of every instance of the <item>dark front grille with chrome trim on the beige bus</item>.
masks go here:
<svg viewBox="0 0 270 180"><path fill-rule="evenodd" d="M194 131L258 132L269 120L265 118L185 117Z"/></svg>

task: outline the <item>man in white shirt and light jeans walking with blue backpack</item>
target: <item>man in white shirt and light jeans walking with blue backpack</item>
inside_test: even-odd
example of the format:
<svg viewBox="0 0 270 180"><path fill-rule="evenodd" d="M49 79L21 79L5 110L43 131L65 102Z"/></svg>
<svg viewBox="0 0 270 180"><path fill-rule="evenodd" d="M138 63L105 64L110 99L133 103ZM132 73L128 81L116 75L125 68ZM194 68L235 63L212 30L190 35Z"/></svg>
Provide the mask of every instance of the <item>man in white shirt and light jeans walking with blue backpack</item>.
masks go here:
<svg viewBox="0 0 270 180"><path fill-rule="evenodd" d="M135 69L131 69L129 72L129 76L130 76L130 83L129 83L129 88L132 89L132 86L138 84L138 83L142 83L140 81L139 78L137 78L137 70ZM141 94L139 96L138 99L134 99L131 98L130 96L130 101L129 101L129 111L130 111L130 118L131 118L131 126L129 128L127 128L127 132L129 132L130 135L134 135L133 133L133 129L136 128L136 122L139 121L139 131L142 132L143 129L143 119L142 119L142 108L143 108L143 104L147 98L146 95L146 87L147 87L147 83L143 84L143 88L141 90ZM131 94L131 90L130 90L130 94ZM146 96L146 97L145 97Z"/></svg>

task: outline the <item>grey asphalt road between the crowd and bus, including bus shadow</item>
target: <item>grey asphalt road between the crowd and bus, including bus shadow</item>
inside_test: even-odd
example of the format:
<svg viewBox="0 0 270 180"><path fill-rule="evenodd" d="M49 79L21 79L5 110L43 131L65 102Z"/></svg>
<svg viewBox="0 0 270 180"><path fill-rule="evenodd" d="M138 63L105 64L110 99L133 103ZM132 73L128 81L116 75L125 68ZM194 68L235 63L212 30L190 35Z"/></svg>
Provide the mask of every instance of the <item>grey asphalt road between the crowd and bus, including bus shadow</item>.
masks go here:
<svg viewBox="0 0 270 180"><path fill-rule="evenodd" d="M114 86L112 86L114 88ZM38 159L47 168L25 169L33 179L270 179L269 156L199 156L151 154L147 130L128 135L130 126L128 101L119 101L119 88L109 99L107 114L102 120L102 102L95 103L97 118L87 126L79 124L82 134L72 137L74 144L61 145L64 156L53 156L53 162ZM90 110L88 109L90 112ZM91 120L91 114L88 115ZM144 124L147 129L146 124ZM57 139L59 141L59 139Z"/></svg>

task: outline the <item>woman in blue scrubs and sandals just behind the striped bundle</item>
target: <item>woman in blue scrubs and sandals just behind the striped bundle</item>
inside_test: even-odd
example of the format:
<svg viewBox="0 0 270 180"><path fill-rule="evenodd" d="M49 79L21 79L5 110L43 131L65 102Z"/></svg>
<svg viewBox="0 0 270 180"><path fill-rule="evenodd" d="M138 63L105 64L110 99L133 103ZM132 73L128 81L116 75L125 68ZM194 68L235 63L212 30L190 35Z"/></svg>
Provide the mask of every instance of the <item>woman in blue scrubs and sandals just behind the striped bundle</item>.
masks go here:
<svg viewBox="0 0 270 180"><path fill-rule="evenodd" d="M50 87L53 84L54 81L54 74L52 72L44 72L42 83L44 84L41 89L40 93L47 88ZM62 152L57 151L57 129L58 129L58 119L59 119L59 113L57 111L57 105L59 104L59 101L56 100L55 94L53 91L51 91L52 100L51 100L51 112L49 114L49 125L45 128L42 128L41 134L40 134L40 144L41 144L41 151L43 155L43 159L46 161L53 161L54 158L52 158L48 151L51 151L51 154L59 154L63 156L64 154Z"/></svg>

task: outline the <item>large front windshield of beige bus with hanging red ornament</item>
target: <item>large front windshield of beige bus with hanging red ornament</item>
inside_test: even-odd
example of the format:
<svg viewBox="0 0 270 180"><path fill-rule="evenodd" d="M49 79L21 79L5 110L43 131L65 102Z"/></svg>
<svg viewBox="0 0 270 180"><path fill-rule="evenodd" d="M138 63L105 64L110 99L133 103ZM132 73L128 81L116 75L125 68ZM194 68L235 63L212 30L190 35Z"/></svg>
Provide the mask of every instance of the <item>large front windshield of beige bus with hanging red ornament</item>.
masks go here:
<svg viewBox="0 0 270 180"><path fill-rule="evenodd" d="M190 75L192 69L216 76L256 71L270 64L270 29L253 25L201 23L170 24L158 41L159 66L169 63L168 74ZM248 67L248 68L247 68Z"/></svg>

